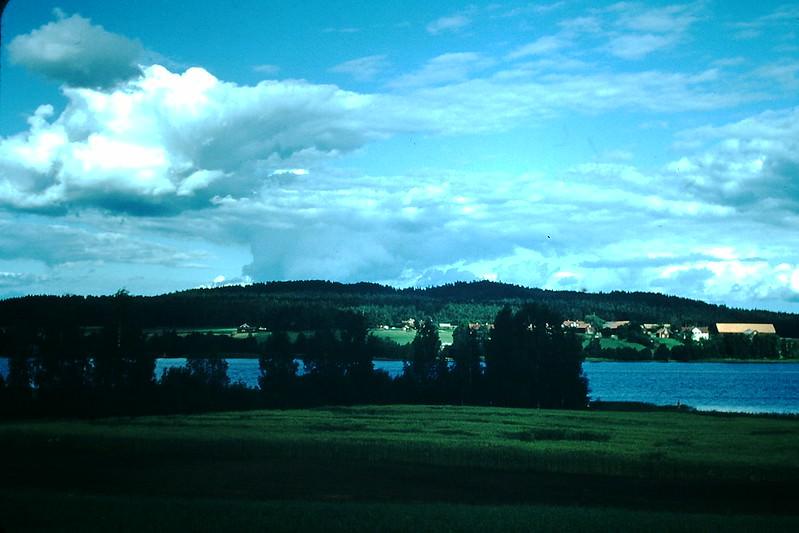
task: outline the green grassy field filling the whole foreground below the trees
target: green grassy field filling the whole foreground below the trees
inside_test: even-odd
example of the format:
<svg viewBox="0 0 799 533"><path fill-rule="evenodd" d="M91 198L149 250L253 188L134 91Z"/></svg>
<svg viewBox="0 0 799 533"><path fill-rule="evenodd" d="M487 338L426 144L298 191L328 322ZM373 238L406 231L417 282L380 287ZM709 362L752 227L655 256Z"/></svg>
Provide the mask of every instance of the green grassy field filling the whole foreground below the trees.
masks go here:
<svg viewBox="0 0 799 533"><path fill-rule="evenodd" d="M336 407L0 424L6 531L797 531L799 420Z"/></svg>

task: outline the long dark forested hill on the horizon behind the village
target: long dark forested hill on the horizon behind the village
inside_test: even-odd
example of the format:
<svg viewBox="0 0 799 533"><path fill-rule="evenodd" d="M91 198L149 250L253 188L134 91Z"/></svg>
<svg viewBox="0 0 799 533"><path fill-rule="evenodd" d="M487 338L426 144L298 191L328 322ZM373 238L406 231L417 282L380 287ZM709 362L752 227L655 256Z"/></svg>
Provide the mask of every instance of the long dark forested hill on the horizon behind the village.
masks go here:
<svg viewBox="0 0 799 533"><path fill-rule="evenodd" d="M164 294L131 296L126 305L142 327L236 327L268 329L335 327L341 312L363 313L369 323L397 325L408 318L435 322L490 322L505 305L534 301L563 318L597 315L632 320L706 326L716 322L768 322L784 337L799 337L799 315L731 309L697 300L644 292L550 291L489 281L459 282L425 289L396 289L374 283L329 281L256 283ZM77 322L104 324L114 296L28 296L0 301L0 326Z"/></svg>

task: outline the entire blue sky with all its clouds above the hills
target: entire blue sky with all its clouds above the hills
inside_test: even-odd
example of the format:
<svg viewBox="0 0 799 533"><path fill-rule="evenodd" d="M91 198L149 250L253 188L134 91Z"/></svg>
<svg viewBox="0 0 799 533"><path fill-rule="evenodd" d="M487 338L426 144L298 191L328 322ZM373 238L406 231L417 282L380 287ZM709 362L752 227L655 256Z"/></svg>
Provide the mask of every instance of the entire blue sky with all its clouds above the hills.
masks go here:
<svg viewBox="0 0 799 533"><path fill-rule="evenodd" d="M488 279L799 312L799 3L186 6L9 2L0 298Z"/></svg>

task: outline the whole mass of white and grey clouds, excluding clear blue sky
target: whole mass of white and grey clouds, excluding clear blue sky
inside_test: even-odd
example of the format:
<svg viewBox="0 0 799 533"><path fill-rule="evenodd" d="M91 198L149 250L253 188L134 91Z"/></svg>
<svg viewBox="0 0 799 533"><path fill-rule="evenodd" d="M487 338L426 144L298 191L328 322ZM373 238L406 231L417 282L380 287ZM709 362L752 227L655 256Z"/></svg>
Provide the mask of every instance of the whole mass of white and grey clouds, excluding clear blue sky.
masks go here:
<svg viewBox="0 0 799 533"><path fill-rule="evenodd" d="M646 63L690 40L702 5L620 6L493 52L447 51L401 71L381 53L327 69L368 93L139 67L141 45L78 15L19 36L9 53L61 82L66 105L40 106L26 131L0 139L0 244L17 261L0 261L0 286L47 276L23 261L191 269L235 249L239 271L209 282L484 278L799 301L799 107L779 92L790 94L797 63ZM481 16L420 30L443 39ZM100 51L70 46L76 37ZM564 117L627 121L627 144L597 150L580 134L593 150L545 165ZM658 139L654 162L638 157L644 135ZM430 160L413 159L417 140L433 146ZM359 168L381 150L401 155Z"/></svg>

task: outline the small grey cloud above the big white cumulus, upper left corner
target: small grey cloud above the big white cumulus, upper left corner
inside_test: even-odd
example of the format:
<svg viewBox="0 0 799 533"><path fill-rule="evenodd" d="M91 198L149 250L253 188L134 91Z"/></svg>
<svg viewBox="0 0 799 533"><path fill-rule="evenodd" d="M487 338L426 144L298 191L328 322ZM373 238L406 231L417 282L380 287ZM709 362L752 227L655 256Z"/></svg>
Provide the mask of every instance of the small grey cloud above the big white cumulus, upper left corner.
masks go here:
<svg viewBox="0 0 799 533"><path fill-rule="evenodd" d="M80 15L60 18L8 44L12 62L70 87L108 89L134 78L142 46Z"/></svg>

